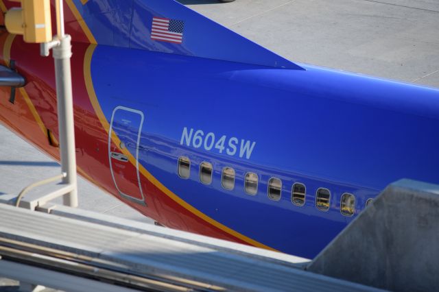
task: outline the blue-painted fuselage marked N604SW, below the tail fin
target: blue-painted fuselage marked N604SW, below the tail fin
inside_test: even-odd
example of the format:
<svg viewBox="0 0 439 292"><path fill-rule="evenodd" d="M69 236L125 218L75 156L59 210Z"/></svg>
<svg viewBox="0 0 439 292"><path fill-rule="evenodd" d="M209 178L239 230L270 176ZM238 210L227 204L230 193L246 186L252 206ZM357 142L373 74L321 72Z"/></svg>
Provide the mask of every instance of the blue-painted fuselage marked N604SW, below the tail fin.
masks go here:
<svg viewBox="0 0 439 292"><path fill-rule="evenodd" d="M204 214L276 250L312 258L391 182L439 182L434 88L305 65L285 70L149 51L117 61L121 54L97 47L92 77L103 84L95 90L108 121L117 106L145 114L141 165ZM112 72L130 62L137 64L130 75ZM193 136L202 130L200 147L193 136L187 145L185 128ZM119 138L135 141L130 133ZM227 137L222 154L209 149L208 133L215 143ZM255 142L250 158L226 153L230 137ZM187 180L178 175L182 156L191 160ZM200 182L202 162L213 165L209 185ZM233 190L222 187L224 167L235 169ZM257 195L244 191L248 172L259 176ZM279 201L268 197L270 178L282 181ZM307 188L305 206L292 204L295 182ZM327 212L316 208L318 188L331 191ZM352 217L340 212L344 193L355 195Z"/></svg>

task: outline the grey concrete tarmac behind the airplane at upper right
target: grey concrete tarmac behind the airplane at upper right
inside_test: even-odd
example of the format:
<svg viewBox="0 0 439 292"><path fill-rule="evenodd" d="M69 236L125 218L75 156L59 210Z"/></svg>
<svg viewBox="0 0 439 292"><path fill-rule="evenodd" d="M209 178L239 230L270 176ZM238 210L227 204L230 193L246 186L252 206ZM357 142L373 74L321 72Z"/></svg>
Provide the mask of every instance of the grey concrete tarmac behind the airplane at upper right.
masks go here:
<svg viewBox="0 0 439 292"><path fill-rule="evenodd" d="M179 0L294 62L439 87L437 0Z"/></svg>

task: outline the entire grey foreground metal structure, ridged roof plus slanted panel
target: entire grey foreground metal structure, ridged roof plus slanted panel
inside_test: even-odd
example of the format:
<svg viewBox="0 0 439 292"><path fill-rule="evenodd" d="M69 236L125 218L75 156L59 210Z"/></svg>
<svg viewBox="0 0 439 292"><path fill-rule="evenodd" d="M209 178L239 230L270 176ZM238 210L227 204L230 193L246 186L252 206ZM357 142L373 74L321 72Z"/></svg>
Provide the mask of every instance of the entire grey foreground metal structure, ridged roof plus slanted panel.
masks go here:
<svg viewBox="0 0 439 292"><path fill-rule="evenodd" d="M439 284L438 195L434 184L390 184L312 261L67 206L31 212L1 197L0 276L25 282L25 291L38 284L68 291L432 291Z"/></svg>

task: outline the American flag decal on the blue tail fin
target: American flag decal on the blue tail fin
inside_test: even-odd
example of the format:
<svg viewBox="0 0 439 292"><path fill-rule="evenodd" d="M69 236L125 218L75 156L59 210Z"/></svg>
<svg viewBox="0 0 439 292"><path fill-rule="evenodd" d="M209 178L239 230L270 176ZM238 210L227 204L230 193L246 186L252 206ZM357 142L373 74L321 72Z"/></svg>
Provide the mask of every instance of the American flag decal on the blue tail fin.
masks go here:
<svg viewBox="0 0 439 292"><path fill-rule="evenodd" d="M184 21L154 17L152 19L151 38L162 42L181 44L184 27Z"/></svg>

